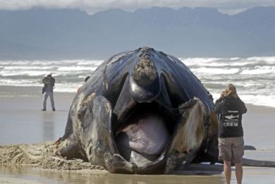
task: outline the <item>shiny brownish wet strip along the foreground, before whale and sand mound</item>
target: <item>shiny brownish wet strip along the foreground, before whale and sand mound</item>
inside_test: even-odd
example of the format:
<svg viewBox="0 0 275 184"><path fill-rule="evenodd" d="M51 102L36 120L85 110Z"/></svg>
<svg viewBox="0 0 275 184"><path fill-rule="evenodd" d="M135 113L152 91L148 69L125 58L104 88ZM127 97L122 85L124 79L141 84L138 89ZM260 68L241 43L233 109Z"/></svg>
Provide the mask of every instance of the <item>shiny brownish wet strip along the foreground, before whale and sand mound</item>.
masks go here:
<svg viewBox="0 0 275 184"><path fill-rule="evenodd" d="M102 183L102 184L159 184L159 183L224 183L221 175L125 175L106 171L51 171L28 166L0 166L0 178L17 178L26 183ZM0 179L1 183L1 179Z"/></svg>

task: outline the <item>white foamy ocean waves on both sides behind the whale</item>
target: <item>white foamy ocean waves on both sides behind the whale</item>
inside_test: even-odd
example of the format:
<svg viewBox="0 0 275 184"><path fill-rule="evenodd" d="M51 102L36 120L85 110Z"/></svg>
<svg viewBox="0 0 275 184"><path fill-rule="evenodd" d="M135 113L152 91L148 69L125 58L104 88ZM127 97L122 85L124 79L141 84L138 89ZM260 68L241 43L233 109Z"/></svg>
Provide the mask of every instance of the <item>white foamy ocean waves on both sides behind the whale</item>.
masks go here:
<svg viewBox="0 0 275 184"><path fill-rule="evenodd" d="M247 104L275 107L275 56L250 58L180 58L218 99L228 83ZM42 86L53 73L56 92L76 92L101 60L0 61L0 86Z"/></svg>

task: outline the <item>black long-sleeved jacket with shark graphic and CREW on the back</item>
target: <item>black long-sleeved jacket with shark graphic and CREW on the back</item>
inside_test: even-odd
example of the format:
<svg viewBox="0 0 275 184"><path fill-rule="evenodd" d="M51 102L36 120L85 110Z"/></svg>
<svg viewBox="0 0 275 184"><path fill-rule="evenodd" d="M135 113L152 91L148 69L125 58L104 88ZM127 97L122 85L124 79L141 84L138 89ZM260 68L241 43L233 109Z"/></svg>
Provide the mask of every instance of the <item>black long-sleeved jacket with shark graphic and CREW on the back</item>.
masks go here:
<svg viewBox="0 0 275 184"><path fill-rule="evenodd" d="M242 114L247 109L243 101L232 96L217 99L214 111L219 115L219 137L242 137Z"/></svg>

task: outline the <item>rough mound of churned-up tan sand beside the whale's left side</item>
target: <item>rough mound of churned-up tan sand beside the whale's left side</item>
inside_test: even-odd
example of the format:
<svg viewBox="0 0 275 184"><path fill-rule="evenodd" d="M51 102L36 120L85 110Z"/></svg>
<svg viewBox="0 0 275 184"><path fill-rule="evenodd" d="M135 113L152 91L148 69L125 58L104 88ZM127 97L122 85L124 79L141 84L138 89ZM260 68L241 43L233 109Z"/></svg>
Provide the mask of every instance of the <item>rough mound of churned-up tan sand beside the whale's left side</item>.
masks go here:
<svg viewBox="0 0 275 184"><path fill-rule="evenodd" d="M1 164L21 164L34 168L56 170L104 170L102 166L93 166L80 159L67 160L59 157L57 150L61 144L42 142L37 144L0 146Z"/></svg>

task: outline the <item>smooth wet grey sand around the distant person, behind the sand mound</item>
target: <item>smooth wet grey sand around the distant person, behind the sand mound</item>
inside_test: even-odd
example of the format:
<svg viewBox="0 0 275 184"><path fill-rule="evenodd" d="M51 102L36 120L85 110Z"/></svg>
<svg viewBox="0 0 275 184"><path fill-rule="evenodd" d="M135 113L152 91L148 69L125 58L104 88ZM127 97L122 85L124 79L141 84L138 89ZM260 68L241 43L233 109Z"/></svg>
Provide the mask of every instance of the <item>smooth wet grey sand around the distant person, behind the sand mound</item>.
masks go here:
<svg viewBox="0 0 275 184"><path fill-rule="evenodd" d="M54 93L56 111L41 111L43 95L37 87L0 88L0 145L57 140L64 133L73 93Z"/></svg>

